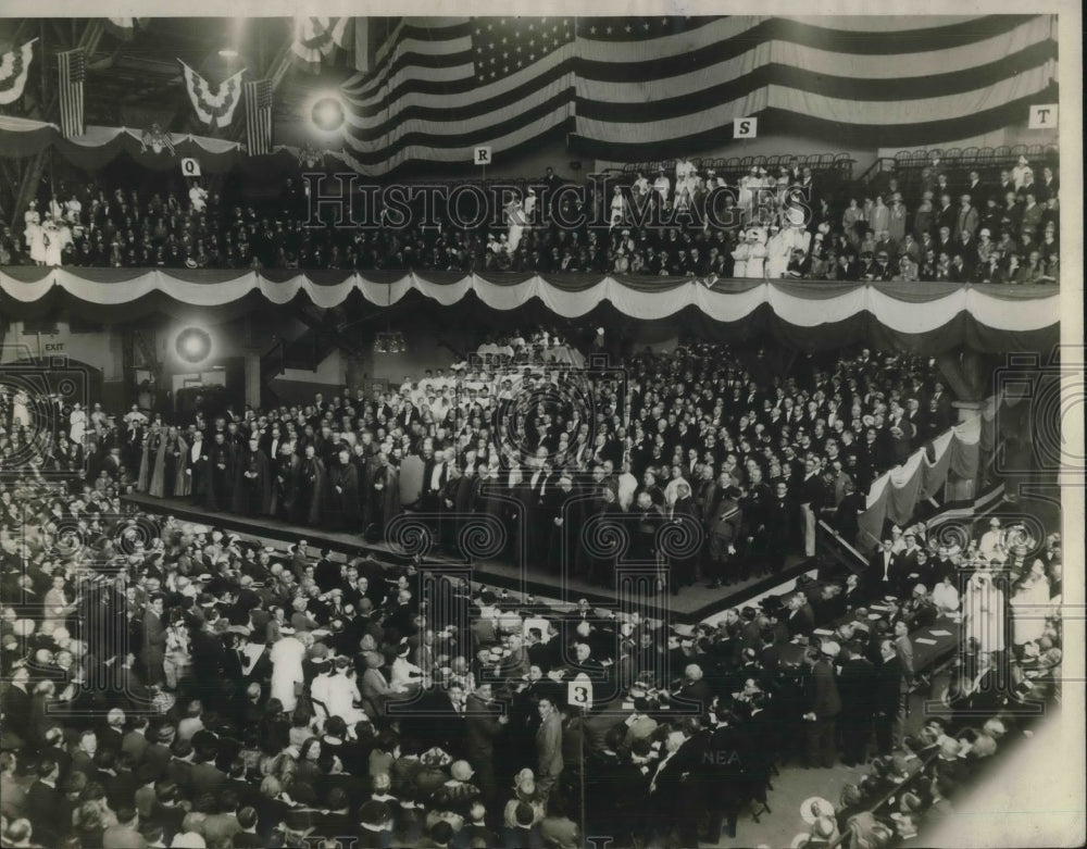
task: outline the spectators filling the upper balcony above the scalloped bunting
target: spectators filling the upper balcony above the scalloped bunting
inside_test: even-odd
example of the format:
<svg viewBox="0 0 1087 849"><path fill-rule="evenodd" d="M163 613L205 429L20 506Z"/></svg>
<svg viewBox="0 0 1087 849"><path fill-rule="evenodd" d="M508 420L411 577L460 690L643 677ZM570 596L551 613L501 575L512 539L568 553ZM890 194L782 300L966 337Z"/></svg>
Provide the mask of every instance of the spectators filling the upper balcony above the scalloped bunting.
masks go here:
<svg viewBox="0 0 1087 849"><path fill-rule="evenodd" d="M934 153L910 195L895 176L837 193L821 179L796 159L729 178L685 158L611 183L548 168L504 197L480 189L482 214L463 224L420 201L395 217L378 210L366 227L317 219L301 177L273 198L223 198L198 180L158 192L73 180L5 223L0 265L1059 280L1051 165L960 171Z"/></svg>

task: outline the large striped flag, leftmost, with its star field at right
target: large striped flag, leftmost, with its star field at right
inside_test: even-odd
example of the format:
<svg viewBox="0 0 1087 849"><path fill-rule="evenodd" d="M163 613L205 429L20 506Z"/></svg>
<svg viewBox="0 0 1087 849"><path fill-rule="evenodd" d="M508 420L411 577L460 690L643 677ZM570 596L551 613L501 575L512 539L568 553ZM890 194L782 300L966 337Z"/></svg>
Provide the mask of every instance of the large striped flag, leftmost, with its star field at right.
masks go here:
<svg viewBox="0 0 1087 849"><path fill-rule="evenodd" d="M573 17L403 18L342 86L346 153L380 174L574 129L575 35Z"/></svg>

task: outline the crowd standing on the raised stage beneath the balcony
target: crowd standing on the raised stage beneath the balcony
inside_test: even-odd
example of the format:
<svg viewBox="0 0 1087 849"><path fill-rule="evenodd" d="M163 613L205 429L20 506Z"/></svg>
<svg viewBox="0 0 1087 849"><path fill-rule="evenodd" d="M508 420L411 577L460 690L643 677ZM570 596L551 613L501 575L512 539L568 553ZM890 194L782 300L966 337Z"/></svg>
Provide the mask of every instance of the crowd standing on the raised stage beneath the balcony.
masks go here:
<svg viewBox="0 0 1087 849"><path fill-rule="evenodd" d="M869 349L802 358L785 378L754 349L705 342L596 371L557 363L579 354L553 329L479 351L305 405L190 420L76 405L40 462L86 470L96 489L371 540L408 512L450 554L471 553L464 527L489 521L503 542L492 557L602 586L620 559L667 562L679 592L813 557L821 519L857 542L874 477L954 417L930 361ZM26 429L0 435L0 462ZM591 544L609 528L625 551Z"/></svg>

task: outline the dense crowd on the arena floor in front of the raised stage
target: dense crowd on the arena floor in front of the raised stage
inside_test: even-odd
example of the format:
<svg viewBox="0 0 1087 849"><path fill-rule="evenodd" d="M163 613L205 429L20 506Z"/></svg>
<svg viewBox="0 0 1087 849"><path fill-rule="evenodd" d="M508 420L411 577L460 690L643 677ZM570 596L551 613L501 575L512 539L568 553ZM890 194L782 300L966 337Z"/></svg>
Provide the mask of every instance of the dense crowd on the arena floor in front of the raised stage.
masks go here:
<svg viewBox="0 0 1087 849"><path fill-rule="evenodd" d="M152 515L101 475L0 484L5 846L695 846L840 757L870 772L797 845L882 847L1059 700L1060 538L999 521L669 627L440 571L424 596L418 563ZM948 709L911 728L909 635L955 617Z"/></svg>

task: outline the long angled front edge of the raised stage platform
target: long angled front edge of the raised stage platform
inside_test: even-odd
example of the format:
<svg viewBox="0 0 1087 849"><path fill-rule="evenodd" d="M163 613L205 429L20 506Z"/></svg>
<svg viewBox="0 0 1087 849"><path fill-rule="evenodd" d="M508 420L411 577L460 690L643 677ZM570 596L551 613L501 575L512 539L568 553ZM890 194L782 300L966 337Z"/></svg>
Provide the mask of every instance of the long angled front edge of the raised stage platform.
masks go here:
<svg viewBox="0 0 1087 849"><path fill-rule="evenodd" d="M250 537L260 538L268 544L296 542L305 539L311 549L328 548L348 557L373 557L376 560L402 563L409 560L409 554L402 548L388 542L370 542L360 534L325 530L308 525L291 525L266 516L251 517L233 513L213 513L193 505L187 499L152 498L145 495L124 496L123 500L159 515L172 515L185 522L236 532ZM590 584L576 576L549 574L539 569L521 569L508 561L486 559L468 564L443 554L432 554L425 558L430 565L448 565L450 567L471 566L470 580L473 584L493 586L522 595L533 595L540 601L552 601L561 604L576 603L586 598L596 605L614 607L617 592L599 584ZM629 603L645 615L671 619L674 623L694 624L726 608L741 604L748 599L761 596L774 587L790 583L798 575L813 567L812 561L798 557L789 557L785 567L777 574L767 577L752 577L732 586L709 588L704 582L690 587L684 587L673 596L665 590L653 598L641 602L629 599L624 592L624 603ZM629 600L627 600L629 599Z"/></svg>

